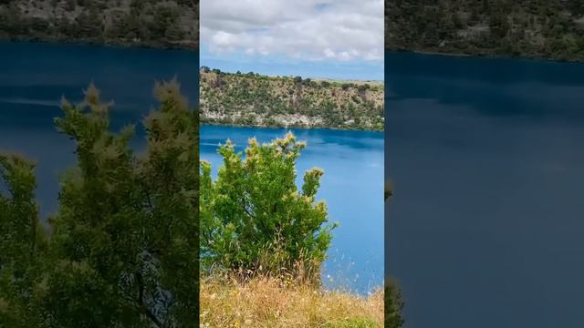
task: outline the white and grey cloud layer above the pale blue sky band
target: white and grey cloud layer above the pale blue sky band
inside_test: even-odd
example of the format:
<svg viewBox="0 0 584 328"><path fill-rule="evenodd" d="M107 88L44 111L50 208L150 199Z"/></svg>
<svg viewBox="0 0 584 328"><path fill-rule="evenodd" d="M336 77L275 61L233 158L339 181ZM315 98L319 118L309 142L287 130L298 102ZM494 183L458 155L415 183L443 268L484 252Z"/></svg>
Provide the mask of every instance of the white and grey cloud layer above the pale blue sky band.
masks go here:
<svg viewBox="0 0 584 328"><path fill-rule="evenodd" d="M383 60L382 0L202 0L201 41L216 54Z"/></svg>

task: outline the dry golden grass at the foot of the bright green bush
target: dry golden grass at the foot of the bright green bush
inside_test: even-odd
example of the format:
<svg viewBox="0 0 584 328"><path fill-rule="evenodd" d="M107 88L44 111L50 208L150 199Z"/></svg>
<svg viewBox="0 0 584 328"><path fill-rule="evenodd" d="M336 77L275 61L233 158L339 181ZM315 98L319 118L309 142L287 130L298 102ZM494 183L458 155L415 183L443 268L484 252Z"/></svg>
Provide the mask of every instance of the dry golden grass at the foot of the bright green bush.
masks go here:
<svg viewBox="0 0 584 328"><path fill-rule="evenodd" d="M287 286L286 286L287 285ZM369 297L323 292L307 284L273 278L251 282L201 280L201 327L351 327L383 326L383 292Z"/></svg>

